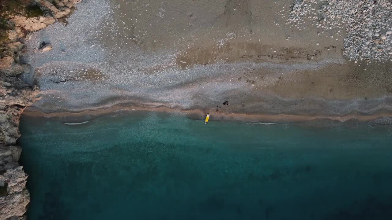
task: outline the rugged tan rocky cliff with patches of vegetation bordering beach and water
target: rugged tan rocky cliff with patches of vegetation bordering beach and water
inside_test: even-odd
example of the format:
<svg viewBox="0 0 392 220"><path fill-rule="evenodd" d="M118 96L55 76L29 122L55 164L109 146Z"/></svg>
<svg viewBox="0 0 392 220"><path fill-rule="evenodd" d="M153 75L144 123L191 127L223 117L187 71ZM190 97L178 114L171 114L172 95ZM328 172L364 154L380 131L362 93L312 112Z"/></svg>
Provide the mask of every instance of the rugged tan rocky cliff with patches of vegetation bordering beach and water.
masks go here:
<svg viewBox="0 0 392 220"><path fill-rule="evenodd" d="M22 148L16 140L20 137L20 115L37 99L39 88L18 78L30 71L29 65L19 59L24 53L24 42L29 40L30 32L47 27L56 19L64 20L80 1L0 0L0 220L26 219L30 202L28 175L18 163ZM41 52L50 49L50 44L41 45Z"/></svg>

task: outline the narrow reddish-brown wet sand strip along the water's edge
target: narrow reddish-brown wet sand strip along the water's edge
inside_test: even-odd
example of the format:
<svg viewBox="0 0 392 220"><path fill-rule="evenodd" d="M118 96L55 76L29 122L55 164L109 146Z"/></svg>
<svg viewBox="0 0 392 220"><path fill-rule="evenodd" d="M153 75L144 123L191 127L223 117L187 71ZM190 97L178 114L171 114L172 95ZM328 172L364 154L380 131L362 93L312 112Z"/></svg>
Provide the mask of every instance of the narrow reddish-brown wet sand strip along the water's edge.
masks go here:
<svg viewBox="0 0 392 220"><path fill-rule="evenodd" d="M140 107L140 106L111 106L111 107L100 107L85 109L78 112L51 112L45 113L38 108L29 106L23 112L23 115L29 117L45 117L45 118L60 118L63 123L70 124L82 124L86 121L94 120L98 117L105 115L115 114L122 111L137 111L137 112L166 112L166 113L177 113L182 114L184 117L194 120L203 120L204 112L199 109L179 109L169 108L167 106L159 107ZM315 120L329 120L338 122L348 122L355 120L361 123L370 122L383 117L392 118L392 113L378 113L371 115L364 114L346 114L346 115L294 115L294 114L241 114L241 113L210 113L211 121L241 121L246 123L258 122L258 123L303 123Z"/></svg>

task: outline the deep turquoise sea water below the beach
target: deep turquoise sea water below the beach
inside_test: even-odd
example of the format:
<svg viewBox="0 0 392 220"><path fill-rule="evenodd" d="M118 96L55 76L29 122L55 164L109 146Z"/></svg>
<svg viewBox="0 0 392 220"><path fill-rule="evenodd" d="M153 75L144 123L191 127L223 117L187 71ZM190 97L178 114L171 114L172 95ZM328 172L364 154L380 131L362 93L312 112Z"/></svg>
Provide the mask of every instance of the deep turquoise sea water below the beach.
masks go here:
<svg viewBox="0 0 392 220"><path fill-rule="evenodd" d="M29 220L392 219L382 126L205 125L166 113L20 121Z"/></svg>

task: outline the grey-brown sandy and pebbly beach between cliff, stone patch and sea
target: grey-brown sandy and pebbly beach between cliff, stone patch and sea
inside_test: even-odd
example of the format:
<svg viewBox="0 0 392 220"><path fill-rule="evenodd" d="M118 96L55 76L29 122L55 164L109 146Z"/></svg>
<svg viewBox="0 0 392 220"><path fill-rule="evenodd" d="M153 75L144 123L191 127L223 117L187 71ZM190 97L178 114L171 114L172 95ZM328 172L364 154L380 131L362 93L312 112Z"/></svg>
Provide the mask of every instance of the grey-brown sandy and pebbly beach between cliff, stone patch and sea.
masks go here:
<svg viewBox="0 0 392 220"><path fill-rule="evenodd" d="M286 25L290 5L83 1L27 42L24 79L42 92L25 114L121 106L279 122L390 116L391 62L343 58L345 30ZM34 53L42 41L53 49Z"/></svg>

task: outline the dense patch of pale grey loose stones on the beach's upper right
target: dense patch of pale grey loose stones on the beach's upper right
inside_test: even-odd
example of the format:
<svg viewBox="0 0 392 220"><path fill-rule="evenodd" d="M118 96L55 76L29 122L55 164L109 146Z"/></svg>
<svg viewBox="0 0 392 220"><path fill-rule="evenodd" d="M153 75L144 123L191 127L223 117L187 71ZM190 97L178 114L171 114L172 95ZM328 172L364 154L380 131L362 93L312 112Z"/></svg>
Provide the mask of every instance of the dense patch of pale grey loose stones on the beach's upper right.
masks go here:
<svg viewBox="0 0 392 220"><path fill-rule="evenodd" d="M390 0L294 0L287 24L303 29L306 19L330 38L341 36L334 29L345 28L343 56L355 63L392 60Z"/></svg>

